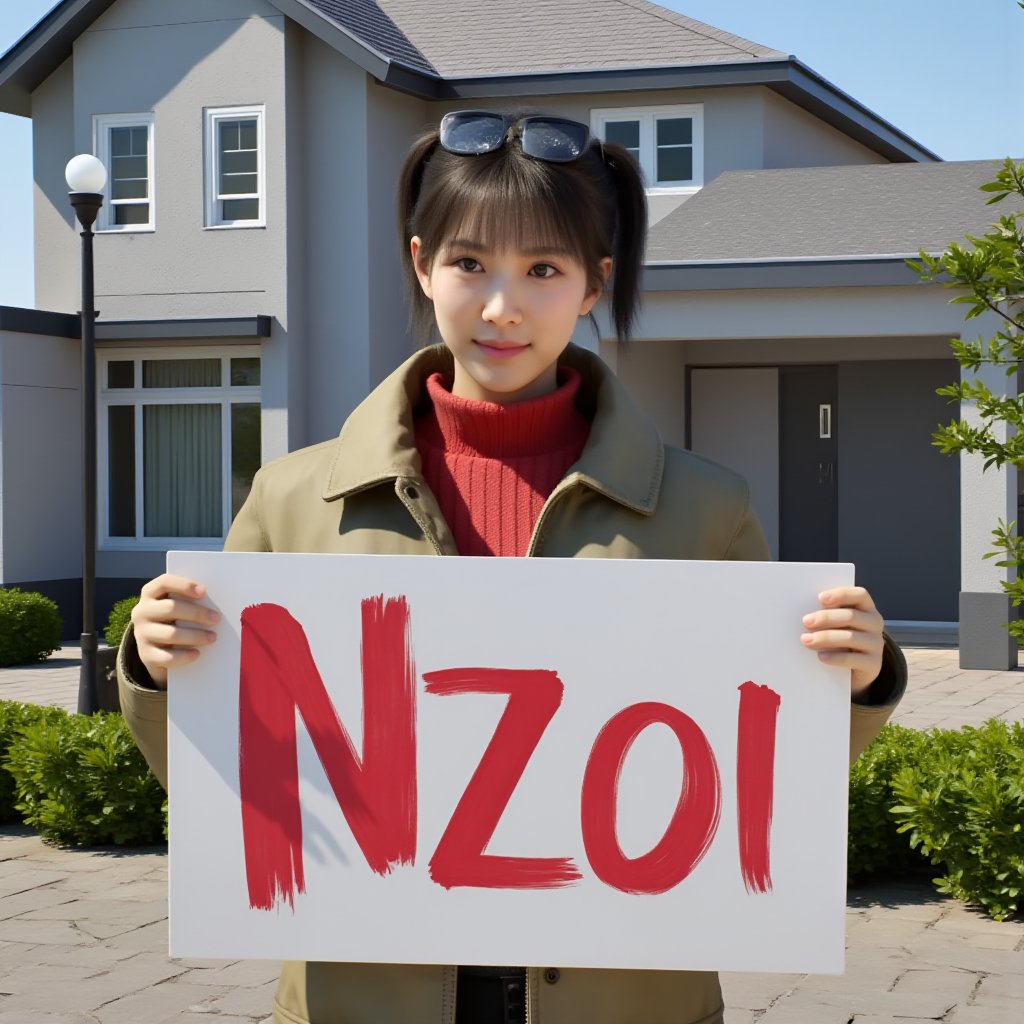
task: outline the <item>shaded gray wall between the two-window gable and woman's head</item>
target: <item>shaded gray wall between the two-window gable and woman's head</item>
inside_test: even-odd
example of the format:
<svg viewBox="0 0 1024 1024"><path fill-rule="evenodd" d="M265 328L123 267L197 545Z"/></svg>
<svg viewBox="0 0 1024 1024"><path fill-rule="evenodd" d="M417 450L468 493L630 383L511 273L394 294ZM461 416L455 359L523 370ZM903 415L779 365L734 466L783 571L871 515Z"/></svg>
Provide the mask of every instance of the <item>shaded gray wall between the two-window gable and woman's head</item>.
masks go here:
<svg viewBox="0 0 1024 1024"><path fill-rule="evenodd" d="M289 103L304 139L293 173L302 181L303 227L301 246L290 250L290 305L301 304L305 321L312 443L336 435L413 351L395 193L402 157L429 117L422 100L382 88L310 35L296 51Z"/></svg>

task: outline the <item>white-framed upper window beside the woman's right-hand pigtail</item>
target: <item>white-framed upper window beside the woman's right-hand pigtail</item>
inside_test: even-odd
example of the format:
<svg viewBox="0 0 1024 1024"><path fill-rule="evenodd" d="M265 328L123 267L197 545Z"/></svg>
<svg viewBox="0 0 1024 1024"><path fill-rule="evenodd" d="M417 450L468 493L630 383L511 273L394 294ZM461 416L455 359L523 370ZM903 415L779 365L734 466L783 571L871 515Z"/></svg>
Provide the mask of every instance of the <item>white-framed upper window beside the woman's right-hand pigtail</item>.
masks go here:
<svg viewBox="0 0 1024 1024"><path fill-rule="evenodd" d="M628 150L648 194L695 191L703 185L703 104L604 108L591 131Z"/></svg>

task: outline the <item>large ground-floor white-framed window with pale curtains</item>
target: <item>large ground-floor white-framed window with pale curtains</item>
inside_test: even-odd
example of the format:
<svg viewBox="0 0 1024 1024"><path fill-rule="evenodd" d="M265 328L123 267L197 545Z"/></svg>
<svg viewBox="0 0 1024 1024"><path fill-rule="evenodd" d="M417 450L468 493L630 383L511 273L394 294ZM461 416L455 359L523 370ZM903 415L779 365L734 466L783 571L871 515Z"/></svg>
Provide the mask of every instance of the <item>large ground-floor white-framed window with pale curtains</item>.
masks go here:
<svg viewBox="0 0 1024 1024"><path fill-rule="evenodd" d="M100 547L219 550L260 466L259 348L97 361Z"/></svg>

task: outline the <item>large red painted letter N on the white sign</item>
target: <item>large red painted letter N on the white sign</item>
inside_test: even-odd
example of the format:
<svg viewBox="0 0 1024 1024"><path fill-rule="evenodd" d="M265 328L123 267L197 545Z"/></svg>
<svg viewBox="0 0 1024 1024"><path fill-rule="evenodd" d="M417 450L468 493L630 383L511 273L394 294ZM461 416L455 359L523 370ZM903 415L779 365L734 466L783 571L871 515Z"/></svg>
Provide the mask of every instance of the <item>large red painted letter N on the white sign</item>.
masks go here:
<svg viewBox="0 0 1024 1024"><path fill-rule="evenodd" d="M362 601L362 756L335 711L302 627L278 604L242 613L239 781L249 903L305 892L295 713L367 863L416 856L416 673L406 598Z"/></svg>

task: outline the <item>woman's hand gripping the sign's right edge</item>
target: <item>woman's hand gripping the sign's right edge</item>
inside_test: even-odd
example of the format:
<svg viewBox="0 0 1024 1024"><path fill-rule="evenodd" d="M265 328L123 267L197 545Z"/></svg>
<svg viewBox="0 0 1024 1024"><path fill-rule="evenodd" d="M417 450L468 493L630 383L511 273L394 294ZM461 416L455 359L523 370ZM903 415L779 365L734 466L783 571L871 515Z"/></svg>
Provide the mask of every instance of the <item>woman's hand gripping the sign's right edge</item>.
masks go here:
<svg viewBox="0 0 1024 1024"><path fill-rule="evenodd" d="M825 665L850 670L850 694L863 693L882 671L885 623L863 587L838 587L818 594L821 608L804 615L800 640Z"/></svg>

